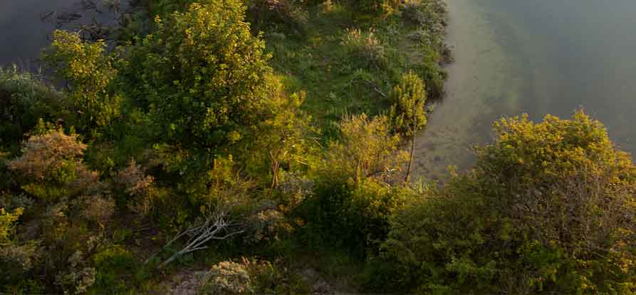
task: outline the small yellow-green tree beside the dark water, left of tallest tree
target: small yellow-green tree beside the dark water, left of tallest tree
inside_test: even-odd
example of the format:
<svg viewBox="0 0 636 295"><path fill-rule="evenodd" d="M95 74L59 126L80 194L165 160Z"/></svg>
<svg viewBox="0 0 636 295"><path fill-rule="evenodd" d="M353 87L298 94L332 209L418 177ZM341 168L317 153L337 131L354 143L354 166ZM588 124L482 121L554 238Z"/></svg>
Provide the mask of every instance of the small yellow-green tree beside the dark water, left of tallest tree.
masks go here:
<svg viewBox="0 0 636 295"><path fill-rule="evenodd" d="M56 30L44 60L56 76L70 87L75 110L82 114L84 125L109 125L120 115L122 98L108 93L115 78L113 57L105 53L103 40L83 41L79 33Z"/></svg>

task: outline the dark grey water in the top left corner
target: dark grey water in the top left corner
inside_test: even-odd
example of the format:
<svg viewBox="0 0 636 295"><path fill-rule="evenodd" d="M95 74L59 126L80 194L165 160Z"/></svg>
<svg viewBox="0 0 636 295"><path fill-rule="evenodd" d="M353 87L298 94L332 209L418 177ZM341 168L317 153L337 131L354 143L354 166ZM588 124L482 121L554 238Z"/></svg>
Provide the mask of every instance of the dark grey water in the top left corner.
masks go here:
<svg viewBox="0 0 636 295"><path fill-rule="evenodd" d="M117 0L0 0L0 66L36 68L36 58L56 28L112 24L116 15L105 3L121 5Z"/></svg>

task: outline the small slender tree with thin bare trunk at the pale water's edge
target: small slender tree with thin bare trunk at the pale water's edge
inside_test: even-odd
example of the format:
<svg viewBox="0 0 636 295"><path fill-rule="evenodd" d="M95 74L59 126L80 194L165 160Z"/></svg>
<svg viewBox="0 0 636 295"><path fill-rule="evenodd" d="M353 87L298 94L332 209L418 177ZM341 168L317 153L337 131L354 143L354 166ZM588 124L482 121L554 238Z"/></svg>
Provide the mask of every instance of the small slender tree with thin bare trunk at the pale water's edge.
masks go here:
<svg viewBox="0 0 636 295"><path fill-rule="evenodd" d="M426 125L427 120L424 82L413 71L409 71L400 78L400 83L393 88L390 98L393 103L390 110L393 127L398 133L411 138L411 156L405 177L408 180L415 152L415 135Z"/></svg>

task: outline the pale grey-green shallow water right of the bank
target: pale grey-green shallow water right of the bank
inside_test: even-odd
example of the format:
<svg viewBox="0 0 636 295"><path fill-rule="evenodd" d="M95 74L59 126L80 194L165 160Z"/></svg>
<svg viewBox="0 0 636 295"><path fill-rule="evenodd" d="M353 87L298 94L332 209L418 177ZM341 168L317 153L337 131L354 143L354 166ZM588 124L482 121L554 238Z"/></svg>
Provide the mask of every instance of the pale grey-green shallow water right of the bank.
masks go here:
<svg viewBox="0 0 636 295"><path fill-rule="evenodd" d="M583 108L610 138L636 152L636 1L447 0L447 97L416 145L416 170L432 179L474 162L491 123L528 113L568 118Z"/></svg>

